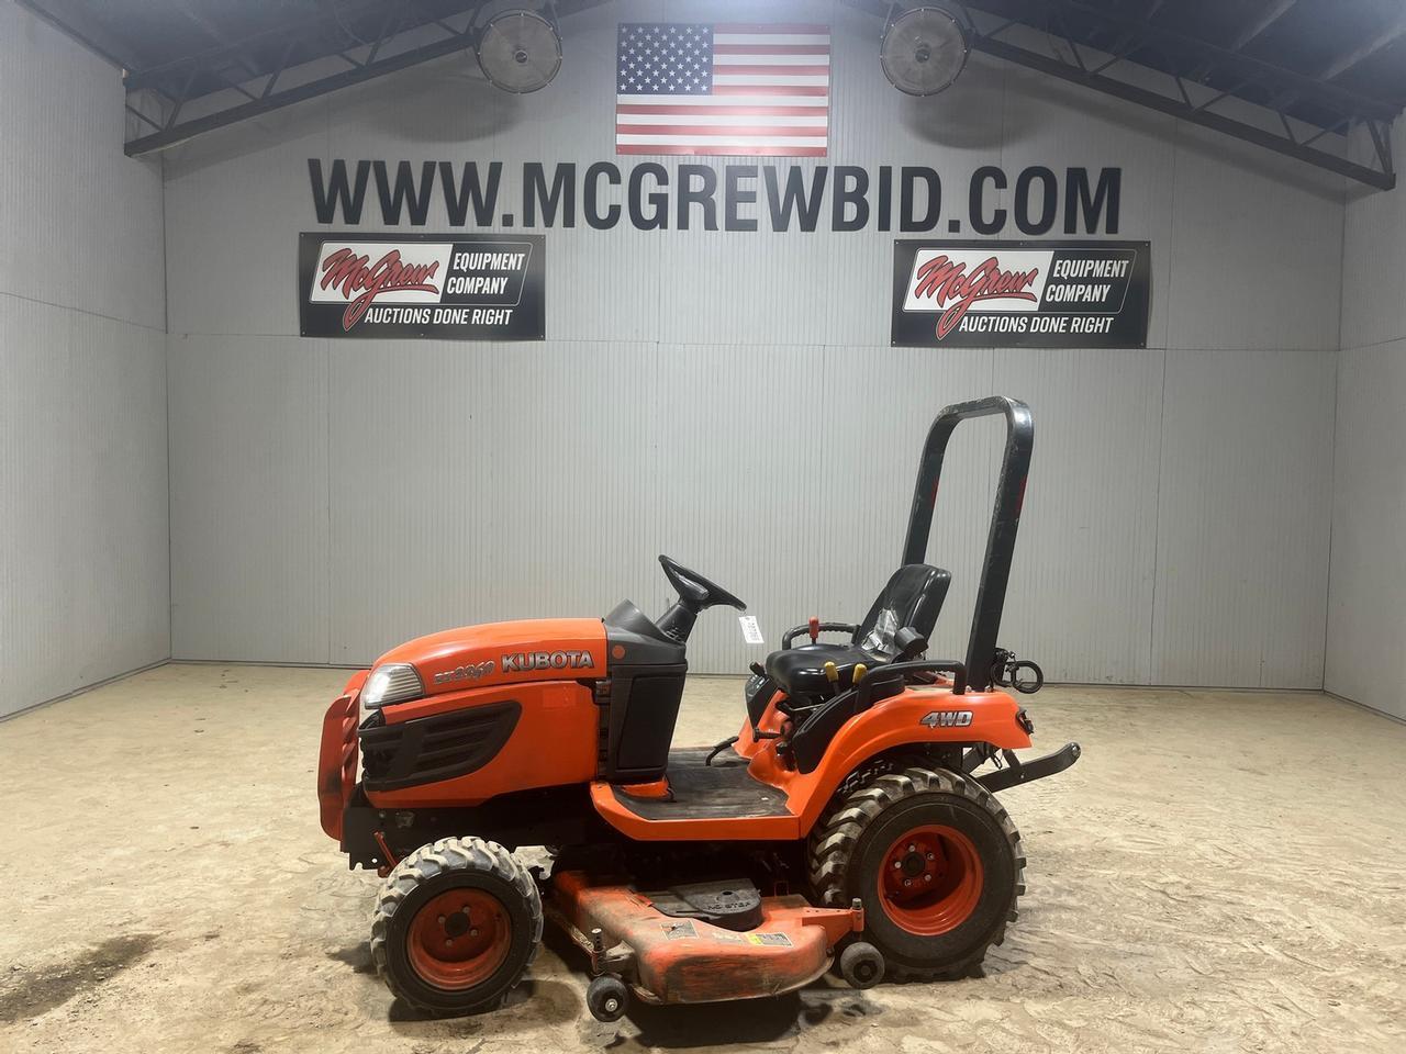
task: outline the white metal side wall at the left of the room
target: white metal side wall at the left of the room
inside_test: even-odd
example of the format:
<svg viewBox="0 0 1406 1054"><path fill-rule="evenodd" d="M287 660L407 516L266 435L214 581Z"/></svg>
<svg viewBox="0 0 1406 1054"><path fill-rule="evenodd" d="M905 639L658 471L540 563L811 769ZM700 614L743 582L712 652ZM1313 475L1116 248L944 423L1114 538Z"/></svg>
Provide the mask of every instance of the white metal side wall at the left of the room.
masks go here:
<svg viewBox="0 0 1406 1054"><path fill-rule="evenodd" d="M162 178L117 69L0 3L0 715L169 655Z"/></svg>

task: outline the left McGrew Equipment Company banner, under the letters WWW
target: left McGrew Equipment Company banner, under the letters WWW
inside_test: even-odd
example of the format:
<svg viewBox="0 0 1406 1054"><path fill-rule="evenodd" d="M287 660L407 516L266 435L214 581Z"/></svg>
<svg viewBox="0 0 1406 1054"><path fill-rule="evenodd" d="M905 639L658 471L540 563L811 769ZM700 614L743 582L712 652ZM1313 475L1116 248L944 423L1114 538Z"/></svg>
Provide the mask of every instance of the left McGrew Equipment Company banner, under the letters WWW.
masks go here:
<svg viewBox="0 0 1406 1054"><path fill-rule="evenodd" d="M302 336L541 340L544 240L299 235Z"/></svg>

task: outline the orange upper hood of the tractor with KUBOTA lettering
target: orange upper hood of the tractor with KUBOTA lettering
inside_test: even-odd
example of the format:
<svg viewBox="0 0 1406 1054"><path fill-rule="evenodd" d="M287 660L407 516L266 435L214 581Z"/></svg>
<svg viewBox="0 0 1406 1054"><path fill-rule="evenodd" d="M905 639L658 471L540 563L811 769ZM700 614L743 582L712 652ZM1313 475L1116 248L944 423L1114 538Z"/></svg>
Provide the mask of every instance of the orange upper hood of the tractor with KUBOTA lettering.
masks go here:
<svg viewBox="0 0 1406 1054"><path fill-rule="evenodd" d="M599 618L523 618L418 637L375 665L408 662L425 694L523 680L593 680L606 673L606 628Z"/></svg>

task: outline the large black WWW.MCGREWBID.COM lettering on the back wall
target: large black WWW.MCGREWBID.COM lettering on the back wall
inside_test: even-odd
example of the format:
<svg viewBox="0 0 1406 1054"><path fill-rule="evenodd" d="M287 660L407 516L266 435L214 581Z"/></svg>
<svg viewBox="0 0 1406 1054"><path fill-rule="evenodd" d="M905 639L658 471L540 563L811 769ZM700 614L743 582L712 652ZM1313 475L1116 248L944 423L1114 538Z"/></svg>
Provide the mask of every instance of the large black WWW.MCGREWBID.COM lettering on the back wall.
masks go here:
<svg viewBox="0 0 1406 1054"><path fill-rule="evenodd" d="M509 180L512 171L512 180ZM1116 235L1122 169L308 159L319 223Z"/></svg>

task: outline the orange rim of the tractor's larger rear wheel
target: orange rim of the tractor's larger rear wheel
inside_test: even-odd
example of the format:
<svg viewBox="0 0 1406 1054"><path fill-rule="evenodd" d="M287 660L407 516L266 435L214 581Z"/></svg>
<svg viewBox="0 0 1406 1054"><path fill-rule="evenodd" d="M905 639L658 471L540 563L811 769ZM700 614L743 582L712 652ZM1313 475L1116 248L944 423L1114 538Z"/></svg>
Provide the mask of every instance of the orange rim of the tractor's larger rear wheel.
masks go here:
<svg viewBox="0 0 1406 1054"><path fill-rule="evenodd" d="M883 854L879 904L898 926L924 937L950 933L981 899L981 856L956 828L914 828Z"/></svg>

